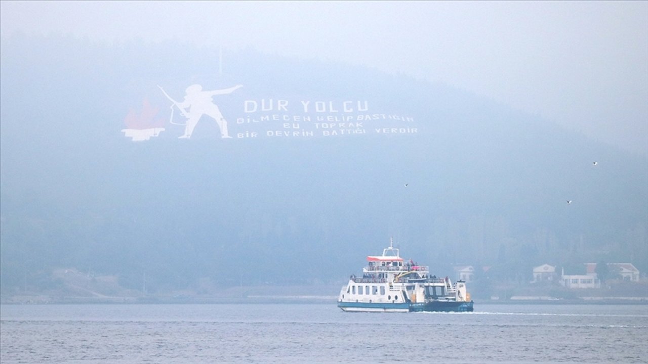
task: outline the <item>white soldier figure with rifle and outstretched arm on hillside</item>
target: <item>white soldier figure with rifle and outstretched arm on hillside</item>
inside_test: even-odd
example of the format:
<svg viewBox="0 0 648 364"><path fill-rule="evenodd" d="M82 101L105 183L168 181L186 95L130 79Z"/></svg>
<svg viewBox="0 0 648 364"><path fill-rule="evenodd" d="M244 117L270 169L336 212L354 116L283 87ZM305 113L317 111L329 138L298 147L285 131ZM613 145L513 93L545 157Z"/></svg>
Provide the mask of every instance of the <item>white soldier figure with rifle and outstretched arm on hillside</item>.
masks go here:
<svg viewBox="0 0 648 364"><path fill-rule="evenodd" d="M201 85L191 85L187 87L187 95L183 102L175 102L172 98L168 97L167 93L165 93L165 95L178 107L180 113L187 118L185 134L179 137L179 139L189 139L194 128L196 128L196 124L198 124L198 120L200 120L203 115L207 115L216 120L222 138L231 138L229 133L227 133L227 120L225 120L223 114L220 113L218 106L213 103L211 98L214 95L226 95L232 93L240 87L243 87L243 85L236 85L234 87L229 87L229 89L203 91ZM160 89L162 89L162 87L160 87ZM162 92L164 92L164 90L162 90ZM189 111L186 110L187 108L189 108Z"/></svg>

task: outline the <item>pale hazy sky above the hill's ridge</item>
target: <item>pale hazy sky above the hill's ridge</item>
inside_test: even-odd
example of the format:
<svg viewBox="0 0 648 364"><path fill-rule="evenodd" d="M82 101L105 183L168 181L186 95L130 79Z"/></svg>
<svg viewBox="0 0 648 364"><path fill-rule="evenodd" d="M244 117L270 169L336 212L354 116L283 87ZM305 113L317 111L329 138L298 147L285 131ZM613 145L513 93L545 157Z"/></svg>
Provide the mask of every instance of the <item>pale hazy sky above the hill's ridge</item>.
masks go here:
<svg viewBox="0 0 648 364"><path fill-rule="evenodd" d="M1 1L0 32L366 65L648 156L648 1Z"/></svg>

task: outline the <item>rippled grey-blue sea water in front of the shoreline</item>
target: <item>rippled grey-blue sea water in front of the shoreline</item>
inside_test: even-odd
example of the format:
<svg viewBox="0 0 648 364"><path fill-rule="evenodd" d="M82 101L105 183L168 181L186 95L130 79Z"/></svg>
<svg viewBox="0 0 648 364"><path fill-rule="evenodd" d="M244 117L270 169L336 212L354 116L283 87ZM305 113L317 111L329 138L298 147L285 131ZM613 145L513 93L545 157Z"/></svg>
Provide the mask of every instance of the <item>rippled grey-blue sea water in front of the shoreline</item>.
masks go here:
<svg viewBox="0 0 648 364"><path fill-rule="evenodd" d="M1 363L646 363L648 305L0 305Z"/></svg>

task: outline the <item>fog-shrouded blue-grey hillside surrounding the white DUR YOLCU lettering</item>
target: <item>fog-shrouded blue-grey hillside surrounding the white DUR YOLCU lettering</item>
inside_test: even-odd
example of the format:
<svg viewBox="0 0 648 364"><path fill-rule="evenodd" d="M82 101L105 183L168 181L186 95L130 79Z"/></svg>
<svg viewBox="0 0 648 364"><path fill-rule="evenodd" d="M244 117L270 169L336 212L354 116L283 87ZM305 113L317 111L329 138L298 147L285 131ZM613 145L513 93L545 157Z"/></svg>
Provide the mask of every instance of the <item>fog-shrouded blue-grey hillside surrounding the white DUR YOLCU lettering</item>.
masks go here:
<svg viewBox="0 0 648 364"><path fill-rule="evenodd" d="M127 287L146 273L152 291L342 283L390 236L440 275L601 259L648 270L645 157L448 85L253 50L225 52L219 75L218 49L61 36L3 39L1 57L3 291L61 267ZM193 83L244 85L219 104L237 132L227 110L269 97L369 100L417 132L226 140L201 120L179 140L156 86L181 98ZM133 142L121 130L143 98L167 130Z"/></svg>

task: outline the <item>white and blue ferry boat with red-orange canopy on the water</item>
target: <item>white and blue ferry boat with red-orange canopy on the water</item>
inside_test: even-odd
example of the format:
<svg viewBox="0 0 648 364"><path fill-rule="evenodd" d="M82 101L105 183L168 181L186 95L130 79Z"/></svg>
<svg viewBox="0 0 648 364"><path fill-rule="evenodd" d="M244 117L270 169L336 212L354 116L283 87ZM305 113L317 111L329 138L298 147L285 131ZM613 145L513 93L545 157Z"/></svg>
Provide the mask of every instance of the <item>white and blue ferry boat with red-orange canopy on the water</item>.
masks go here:
<svg viewBox="0 0 648 364"><path fill-rule="evenodd" d="M345 312L472 312L473 302L466 283L454 284L448 277L430 275L428 266L406 262L399 249L383 249L382 255L367 256L362 277L351 275L338 297Z"/></svg>

